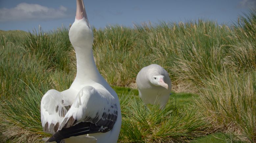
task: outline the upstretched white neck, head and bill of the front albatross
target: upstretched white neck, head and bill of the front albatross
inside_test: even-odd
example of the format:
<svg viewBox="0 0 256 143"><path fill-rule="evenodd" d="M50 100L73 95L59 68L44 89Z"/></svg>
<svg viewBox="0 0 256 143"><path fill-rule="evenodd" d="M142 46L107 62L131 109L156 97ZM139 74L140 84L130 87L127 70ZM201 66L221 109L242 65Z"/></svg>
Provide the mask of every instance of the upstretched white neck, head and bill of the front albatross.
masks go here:
<svg viewBox="0 0 256 143"><path fill-rule="evenodd" d="M93 59L93 32L90 29L82 0L77 0L76 18L68 34L76 52L77 61L76 78L70 88L80 89L81 87L98 83L107 89L111 89L99 73Z"/></svg>

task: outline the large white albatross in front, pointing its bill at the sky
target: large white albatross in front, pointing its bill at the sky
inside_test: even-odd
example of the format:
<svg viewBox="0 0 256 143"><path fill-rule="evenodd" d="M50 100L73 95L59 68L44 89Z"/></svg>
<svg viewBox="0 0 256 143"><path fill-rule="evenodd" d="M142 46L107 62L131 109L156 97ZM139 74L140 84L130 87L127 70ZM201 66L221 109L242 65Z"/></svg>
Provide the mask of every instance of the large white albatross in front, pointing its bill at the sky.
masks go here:
<svg viewBox="0 0 256 143"><path fill-rule="evenodd" d="M43 131L53 134L46 142L117 142L121 110L116 92L96 68L91 30L83 0L77 0L69 40L76 52L77 74L69 89L49 90L41 100Z"/></svg>

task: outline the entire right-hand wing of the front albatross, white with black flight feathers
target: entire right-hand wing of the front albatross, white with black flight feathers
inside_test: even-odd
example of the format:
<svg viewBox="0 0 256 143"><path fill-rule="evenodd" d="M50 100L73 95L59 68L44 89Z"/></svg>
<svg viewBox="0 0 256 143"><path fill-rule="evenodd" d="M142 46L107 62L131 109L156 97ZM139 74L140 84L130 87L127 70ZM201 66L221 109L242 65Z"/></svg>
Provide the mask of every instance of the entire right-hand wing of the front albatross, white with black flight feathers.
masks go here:
<svg viewBox="0 0 256 143"><path fill-rule="evenodd" d="M71 136L110 131L117 119L115 98L106 89L86 86L80 90L49 142Z"/></svg>

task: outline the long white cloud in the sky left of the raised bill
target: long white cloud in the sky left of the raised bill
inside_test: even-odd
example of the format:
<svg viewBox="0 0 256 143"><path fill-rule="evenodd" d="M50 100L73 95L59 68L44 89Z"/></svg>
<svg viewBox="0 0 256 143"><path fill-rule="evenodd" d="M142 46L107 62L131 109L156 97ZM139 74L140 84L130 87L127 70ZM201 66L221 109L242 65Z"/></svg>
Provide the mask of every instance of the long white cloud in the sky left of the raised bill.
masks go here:
<svg viewBox="0 0 256 143"><path fill-rule="evenodd" d="M60 6L59 9L53 9L38 4L20 3L15 8L0 9L0 22L59 19L68 16L70 15L67 13L67 8L64 6Z"/></svg>

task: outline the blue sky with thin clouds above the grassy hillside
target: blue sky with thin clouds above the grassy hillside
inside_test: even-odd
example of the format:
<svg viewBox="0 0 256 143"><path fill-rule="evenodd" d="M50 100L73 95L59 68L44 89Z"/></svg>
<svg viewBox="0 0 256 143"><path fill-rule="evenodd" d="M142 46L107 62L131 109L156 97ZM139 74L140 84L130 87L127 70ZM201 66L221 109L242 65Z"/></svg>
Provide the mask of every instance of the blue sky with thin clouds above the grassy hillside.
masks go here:
<svg viewBox="0 0 256 143"><path fill-rule="evenodd" d="M90 25L96 28L198 18L230 24L238 15L256 8L256 0L84 0L84 4ZM75 0L0 0L0 30L68 27L75 12Z"/></svg>

